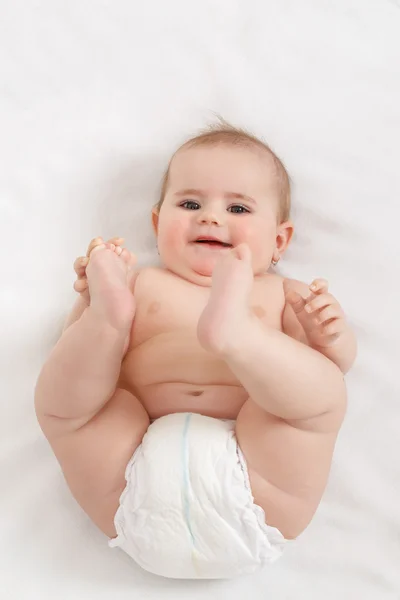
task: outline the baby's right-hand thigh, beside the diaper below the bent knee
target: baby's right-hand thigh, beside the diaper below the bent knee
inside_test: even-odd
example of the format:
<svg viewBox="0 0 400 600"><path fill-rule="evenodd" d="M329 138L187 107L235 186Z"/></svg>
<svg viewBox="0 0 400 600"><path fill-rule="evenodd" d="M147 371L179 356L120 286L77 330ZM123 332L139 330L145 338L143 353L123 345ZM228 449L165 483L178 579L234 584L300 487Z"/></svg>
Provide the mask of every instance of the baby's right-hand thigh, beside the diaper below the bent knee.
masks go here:
<svg viewBox="0 0 400 600"><path fill-rule="evenodd" d="M238 415L236 436L254 501L287 539L300 535L318 507L336 435L298 429L251 399Z"/></svg>

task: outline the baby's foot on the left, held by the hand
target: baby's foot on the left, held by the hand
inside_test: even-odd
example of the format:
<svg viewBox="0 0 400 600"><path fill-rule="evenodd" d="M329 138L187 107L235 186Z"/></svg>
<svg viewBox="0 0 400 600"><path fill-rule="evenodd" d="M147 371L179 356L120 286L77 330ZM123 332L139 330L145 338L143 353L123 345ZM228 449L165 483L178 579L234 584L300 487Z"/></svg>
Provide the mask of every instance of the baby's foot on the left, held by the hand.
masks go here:
<svg viewBox="0 0 400 600"><path fill-rule="evenodd" d="M91 250L86 267L90 308L116 329L129 328L135 314L130 268L122 250L109 243Z"/></svg>

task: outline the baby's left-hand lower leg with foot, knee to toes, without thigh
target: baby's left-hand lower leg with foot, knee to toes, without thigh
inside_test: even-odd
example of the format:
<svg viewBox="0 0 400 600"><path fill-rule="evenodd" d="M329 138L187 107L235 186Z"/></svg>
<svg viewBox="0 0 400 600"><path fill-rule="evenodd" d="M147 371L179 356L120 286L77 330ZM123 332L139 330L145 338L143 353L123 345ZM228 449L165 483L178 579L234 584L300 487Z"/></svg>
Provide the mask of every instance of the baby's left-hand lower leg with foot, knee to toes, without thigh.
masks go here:
<svg viewBox="0 0 400 600"><path fill-rule="evenodd" d="M91 304L63 333L39 376L39 414L67 420L71 429L87 423L115 391L133 319L133 295L120 263L111 250L92 254Z"/></svg>

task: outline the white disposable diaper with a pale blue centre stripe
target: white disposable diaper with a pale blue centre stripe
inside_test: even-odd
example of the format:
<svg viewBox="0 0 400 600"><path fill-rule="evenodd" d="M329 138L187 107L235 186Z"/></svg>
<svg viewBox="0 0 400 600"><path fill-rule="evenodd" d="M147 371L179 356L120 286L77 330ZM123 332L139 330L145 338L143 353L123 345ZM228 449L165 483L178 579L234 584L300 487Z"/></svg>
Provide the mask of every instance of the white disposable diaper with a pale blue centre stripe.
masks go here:
<svg viewBox="0 0 400 600"><path fill-rule="evenodd" d="M130 460L115 515L121 547L164 577L230 578L279 558L286 543L254 504L234 421L192 413L152 423Z"/></svg>

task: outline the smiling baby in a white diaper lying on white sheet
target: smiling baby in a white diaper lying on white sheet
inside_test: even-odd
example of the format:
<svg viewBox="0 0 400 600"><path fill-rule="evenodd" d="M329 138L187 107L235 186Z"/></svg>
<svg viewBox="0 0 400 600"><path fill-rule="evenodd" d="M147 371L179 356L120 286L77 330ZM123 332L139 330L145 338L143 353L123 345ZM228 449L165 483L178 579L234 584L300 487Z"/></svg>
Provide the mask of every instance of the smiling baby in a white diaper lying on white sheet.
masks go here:
<svg viewBox="0 0 400 600"><path fill-rule="evenodd" d="M325 280L270 269L293 234L290 185L252 135L186 142L152 220L162 267L135 269L120 238L77 259L37 418L111 546L167 577L250 573L319 505L355 336Z"/></svg>

